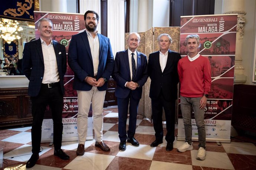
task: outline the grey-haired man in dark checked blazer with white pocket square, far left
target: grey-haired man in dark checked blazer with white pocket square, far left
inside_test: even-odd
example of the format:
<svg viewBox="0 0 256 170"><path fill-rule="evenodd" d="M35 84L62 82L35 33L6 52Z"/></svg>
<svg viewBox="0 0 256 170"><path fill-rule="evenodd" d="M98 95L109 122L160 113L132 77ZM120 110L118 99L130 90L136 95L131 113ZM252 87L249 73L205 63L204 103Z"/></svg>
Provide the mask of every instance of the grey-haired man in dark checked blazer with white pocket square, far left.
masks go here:
<svg viewBox="0 0 256 170"><path fill-rule="evenodd" d="M28 94L31 96L33 115L33 154L26 164L27 168L33 167L39 159L42 122L47 105L52 110L54 155L63 160L69 159L69 156L60 149L63 130L63 77L67 67L66 50L63 45L52 41L52 27L52 21L49 19L39 20L40 38L26 43L23 51L22 68L24 75L29 79Z"/></svg>

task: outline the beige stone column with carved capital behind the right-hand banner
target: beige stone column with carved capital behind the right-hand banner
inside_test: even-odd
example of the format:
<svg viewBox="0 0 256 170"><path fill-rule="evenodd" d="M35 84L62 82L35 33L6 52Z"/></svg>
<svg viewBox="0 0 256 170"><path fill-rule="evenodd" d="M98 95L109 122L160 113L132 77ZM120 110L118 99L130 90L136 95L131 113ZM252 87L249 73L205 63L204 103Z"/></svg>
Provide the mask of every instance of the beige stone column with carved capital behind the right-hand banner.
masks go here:
<svg viewBox="0 0 256 170"><path fill-rule="evenodd" d="M236 33L236 58L234 70L234 84L244 84L247 76L244 75L244 66L242 65L242 42L243 42L243 27L246 23L244 11L244 0L223 0L223 14L238 14L237 16L237 33Z"/></svg>

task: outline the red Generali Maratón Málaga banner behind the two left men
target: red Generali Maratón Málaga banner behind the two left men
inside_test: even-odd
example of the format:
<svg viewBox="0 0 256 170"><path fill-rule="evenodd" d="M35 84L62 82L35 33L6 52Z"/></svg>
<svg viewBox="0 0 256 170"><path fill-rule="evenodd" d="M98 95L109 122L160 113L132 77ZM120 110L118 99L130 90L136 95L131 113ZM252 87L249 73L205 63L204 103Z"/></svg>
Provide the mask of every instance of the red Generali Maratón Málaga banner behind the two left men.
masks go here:
<svg viewBox="0 0 256 170"><path fill-rule="evenodd" d="M68 47L72 35L85 31L85 22L83 14L75 13L55 13L55 12L43 12L34 11L35 16L35 29L36 39L40 37L40 33L37 30L38 21L41 18L48 18L53 23L53 35L52 40L56 41L66 47L66 53L68 54ZM77 114L78 114L78 102L77 93L73 90L74 73L70 69L67 63L67 71L64 77L65 95L63 98L63 113L62 113L62 141L76 141L78 140L77 134ZM46 112L50 113L49 107ZM87 140L93 139L92 134L92 109L90 108L88 116L88 132ZM41 142L53 142L53 121L49 114L45 114L42 125L42 140Z"/></svg>

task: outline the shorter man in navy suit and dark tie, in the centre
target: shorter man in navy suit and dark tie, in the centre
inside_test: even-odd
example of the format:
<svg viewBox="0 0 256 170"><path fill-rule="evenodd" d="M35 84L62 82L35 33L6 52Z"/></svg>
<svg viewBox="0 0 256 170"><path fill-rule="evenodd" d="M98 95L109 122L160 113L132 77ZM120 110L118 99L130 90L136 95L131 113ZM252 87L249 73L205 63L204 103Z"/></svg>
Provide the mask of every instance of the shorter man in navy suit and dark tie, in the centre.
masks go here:
<svg viewBox="0 0 256 170"><path fill-rule="evenodd" d="M126 149L126 140L134 146L140 145L134 138L134 134L142 86L148 79L147 56L136 50L140 45L140 35L138 33L130 33L127 42L129 48L116 53L115 66L112 74L117 84L115 96L117 97L118 103L120 150ZM129 128L126 133L129 103Z"/></svg>

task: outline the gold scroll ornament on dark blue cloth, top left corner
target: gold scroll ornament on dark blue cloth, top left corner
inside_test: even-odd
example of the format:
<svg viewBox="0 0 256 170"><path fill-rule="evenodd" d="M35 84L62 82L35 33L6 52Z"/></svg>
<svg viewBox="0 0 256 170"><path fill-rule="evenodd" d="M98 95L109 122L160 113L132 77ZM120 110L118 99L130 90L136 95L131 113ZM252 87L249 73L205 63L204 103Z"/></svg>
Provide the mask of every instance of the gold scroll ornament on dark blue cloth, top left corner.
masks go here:
<svg viewBox="0 0 256 170"><path fill-rule="evenodd" d="M24 13L27 13L31 19L34 19L34 17L29 14L29 11L27 11L33 7L32 4L33 4L33 0L25 0L25 3L23 3L23 4L21 2L17 2L17 7L19 7L19 8L17 8L17 9L9 8L4 11L4 15L10 14L11 16L16 17L16 16L23 16ZM16 10L19 13L17 13Z"/></svg>

